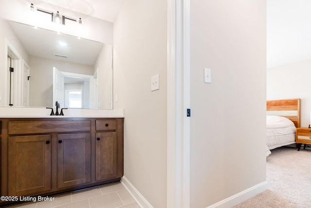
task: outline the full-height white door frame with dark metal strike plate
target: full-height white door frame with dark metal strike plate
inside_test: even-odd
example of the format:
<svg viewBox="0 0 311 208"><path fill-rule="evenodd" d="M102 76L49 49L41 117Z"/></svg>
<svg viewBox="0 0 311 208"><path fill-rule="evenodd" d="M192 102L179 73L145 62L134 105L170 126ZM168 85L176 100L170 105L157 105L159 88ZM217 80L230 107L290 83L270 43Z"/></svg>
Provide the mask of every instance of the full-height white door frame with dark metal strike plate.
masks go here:
<svg viewBox="0 0 311 208"><path fill-rule="evenodd" d="M167 207L190 208L190 0L168 0Z"/></svg>

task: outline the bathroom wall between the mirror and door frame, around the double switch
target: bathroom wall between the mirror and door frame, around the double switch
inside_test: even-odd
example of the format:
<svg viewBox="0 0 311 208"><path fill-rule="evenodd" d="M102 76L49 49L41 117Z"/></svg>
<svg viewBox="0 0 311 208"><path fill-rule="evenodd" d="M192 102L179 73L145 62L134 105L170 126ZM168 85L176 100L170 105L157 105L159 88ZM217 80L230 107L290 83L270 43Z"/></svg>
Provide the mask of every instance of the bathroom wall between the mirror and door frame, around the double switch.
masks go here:
<svg viewBox="0 0 311 208"><path fill-rule="evenodd" d="M124 1L114 28L114 109L125 108L124 176L154 208L165 208L167 1ZM151 92L157 74L160 90Z"/></svg>

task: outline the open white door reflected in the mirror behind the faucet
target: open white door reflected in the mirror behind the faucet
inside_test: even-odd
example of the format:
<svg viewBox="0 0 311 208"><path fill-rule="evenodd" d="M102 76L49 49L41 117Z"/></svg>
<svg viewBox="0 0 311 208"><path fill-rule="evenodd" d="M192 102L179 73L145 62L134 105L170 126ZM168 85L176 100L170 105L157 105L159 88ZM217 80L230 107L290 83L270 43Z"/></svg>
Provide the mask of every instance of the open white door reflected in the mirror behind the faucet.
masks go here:
<svg viewBox="0 0 311 208"><path fill-rule="evenodd" d="M53 105L58 101L61 108L64 108L64 75L56 67L53 67Z"/></svg>

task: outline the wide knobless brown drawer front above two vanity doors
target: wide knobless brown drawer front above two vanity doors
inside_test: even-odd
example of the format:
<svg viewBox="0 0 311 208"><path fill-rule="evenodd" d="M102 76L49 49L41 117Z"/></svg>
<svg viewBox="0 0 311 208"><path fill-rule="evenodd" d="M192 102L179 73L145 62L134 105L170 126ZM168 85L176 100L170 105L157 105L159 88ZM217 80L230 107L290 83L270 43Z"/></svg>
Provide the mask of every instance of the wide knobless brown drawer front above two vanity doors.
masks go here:
<svg viewBox="0 0 311 208"><path fill-rule="evenodd" d="M91 131L90 120L9 121L9 134Z"/></svg>

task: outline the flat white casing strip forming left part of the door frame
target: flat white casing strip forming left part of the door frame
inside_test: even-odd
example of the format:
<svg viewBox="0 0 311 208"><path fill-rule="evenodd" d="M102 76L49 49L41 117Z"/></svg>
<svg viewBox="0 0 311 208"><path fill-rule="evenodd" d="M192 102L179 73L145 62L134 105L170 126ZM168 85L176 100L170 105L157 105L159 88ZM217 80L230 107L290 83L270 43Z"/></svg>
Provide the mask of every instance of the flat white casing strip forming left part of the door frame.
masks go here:
<svg viewBox="0 0 311 208"><path fill-rule="evenodd" d="M182 200L180 192L181 172L177 155L177 119L176 108L177 101L175 92L176 80L176 2L168 0L168 65L167 65L167 208L176 208L177 203Z"/></svg>

